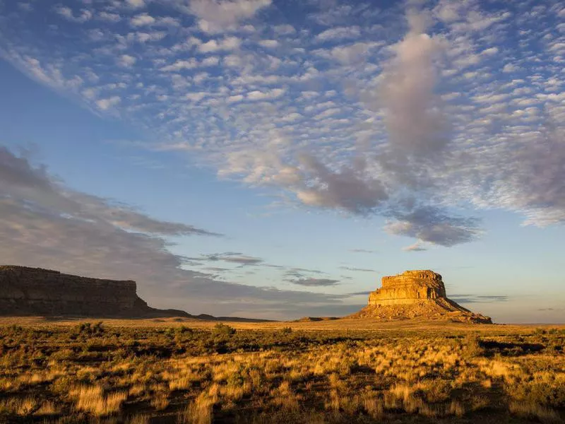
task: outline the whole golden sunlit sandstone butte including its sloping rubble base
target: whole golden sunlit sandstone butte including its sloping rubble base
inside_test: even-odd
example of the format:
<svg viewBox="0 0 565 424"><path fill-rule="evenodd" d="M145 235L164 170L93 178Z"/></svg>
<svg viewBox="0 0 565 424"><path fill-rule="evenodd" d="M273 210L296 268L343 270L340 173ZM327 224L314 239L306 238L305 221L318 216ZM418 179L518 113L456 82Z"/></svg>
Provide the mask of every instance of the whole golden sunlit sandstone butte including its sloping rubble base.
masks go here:
<svg viewBox="0 0 565 424"><path fill-rule="evenodd" d="M381 288L369 294L369 304L351 317L492 324L489 317L475 314L448 299L441 275L430 270L405 271L383 277Z"/></svg>

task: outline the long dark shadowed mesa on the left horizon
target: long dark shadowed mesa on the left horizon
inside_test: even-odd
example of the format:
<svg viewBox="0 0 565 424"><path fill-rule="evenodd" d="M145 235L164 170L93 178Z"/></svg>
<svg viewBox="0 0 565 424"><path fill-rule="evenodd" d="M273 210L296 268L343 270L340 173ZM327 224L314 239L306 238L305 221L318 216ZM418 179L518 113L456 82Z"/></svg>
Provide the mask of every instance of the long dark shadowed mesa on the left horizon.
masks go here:
<svg viewBox="0 0 565 424"><path fill-rule="evenodd" d="M135 281L102 280L25 266L0 266L0 315L191 317L157 310L136 294Z"/></svg>

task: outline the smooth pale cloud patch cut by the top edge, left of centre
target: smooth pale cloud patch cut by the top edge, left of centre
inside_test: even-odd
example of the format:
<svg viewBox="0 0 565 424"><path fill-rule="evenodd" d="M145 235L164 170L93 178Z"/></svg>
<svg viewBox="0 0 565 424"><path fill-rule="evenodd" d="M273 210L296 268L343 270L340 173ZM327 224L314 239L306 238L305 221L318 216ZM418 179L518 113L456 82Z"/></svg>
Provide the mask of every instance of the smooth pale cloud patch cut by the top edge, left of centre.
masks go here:
<svg viewBox="0 0 565 424"><path fill-rule="evenodd" d="M201 30L220 33L253 17L270 3L271 0L192 0L188 11L199 18Z"/></svg>

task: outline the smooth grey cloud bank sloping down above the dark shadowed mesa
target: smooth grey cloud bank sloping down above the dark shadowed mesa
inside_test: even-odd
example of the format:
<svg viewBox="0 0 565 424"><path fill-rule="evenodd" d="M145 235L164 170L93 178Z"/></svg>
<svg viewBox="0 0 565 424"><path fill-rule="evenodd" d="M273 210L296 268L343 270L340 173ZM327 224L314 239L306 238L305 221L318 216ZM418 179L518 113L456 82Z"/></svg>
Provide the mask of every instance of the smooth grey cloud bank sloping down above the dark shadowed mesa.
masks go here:
<svg viewBox="0 0 565 424"><path fill-rule="evenodd" d="M0 146L0 216L0 237L9 240L0 247L4 263L134 279L141 295L156 306L196 313L292 317L311 306L343 305L339 295L258 288L183 269L189 259L169 252L167 236L220 235L156 220L124 204L73 191L46 167L34 166L26 155L16 155L4 146ZM211 260L257 263L235 252Z"/></svg>

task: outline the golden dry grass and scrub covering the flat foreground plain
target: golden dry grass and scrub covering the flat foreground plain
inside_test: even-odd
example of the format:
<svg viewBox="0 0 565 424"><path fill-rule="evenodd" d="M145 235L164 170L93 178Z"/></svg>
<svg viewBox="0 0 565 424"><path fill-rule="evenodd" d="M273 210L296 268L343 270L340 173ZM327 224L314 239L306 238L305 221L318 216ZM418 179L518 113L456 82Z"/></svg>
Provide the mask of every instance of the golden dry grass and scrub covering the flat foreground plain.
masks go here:
<svg viewBox="0 0 565 424"><path fill-rule="evenodd" d="M565 422L560 329L281 325L0 327L0 422Z"/></svg>

